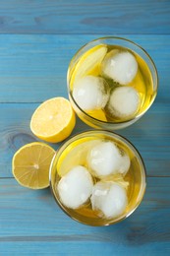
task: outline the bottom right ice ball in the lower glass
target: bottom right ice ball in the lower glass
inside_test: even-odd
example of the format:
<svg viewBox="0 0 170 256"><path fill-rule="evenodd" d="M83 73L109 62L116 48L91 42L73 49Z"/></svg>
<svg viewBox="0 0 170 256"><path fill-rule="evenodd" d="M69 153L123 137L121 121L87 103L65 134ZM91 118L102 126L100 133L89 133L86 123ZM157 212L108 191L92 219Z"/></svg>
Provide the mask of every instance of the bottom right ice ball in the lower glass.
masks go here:
<svg viewBox="0 0 170 256"><path fill-rule="evenodd" d="M101 211L105 218L116 218L126 210L127 192L118 183L99 181L93 186L91 205L93 210Z"/></svg>

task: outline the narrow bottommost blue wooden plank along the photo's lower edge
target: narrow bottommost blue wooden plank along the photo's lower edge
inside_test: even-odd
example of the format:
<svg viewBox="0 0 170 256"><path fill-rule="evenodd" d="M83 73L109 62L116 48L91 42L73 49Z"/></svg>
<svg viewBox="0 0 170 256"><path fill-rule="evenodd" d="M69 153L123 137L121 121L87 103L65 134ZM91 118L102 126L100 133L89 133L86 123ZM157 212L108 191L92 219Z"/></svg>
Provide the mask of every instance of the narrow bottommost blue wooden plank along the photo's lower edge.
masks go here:
<svg viewBox="0 0 170 256"><path fill-rule="evenodd" d="M94 234L95 235L95 234ZM34 238L34 237L33 237ZM89 238L90 239L90 238ZM114 242L102 242L102 241L68 241L62 240L58 241L56 237L53 241L15 241L15 242L2 242L0 243L0 250L2 255L64 255L64 256L79 256L79 255L89 255L89 256L169 256L170 249L169 243L158 242L151 245L138 245L130 247L126 244L117 243L116 246Z"/></svg>

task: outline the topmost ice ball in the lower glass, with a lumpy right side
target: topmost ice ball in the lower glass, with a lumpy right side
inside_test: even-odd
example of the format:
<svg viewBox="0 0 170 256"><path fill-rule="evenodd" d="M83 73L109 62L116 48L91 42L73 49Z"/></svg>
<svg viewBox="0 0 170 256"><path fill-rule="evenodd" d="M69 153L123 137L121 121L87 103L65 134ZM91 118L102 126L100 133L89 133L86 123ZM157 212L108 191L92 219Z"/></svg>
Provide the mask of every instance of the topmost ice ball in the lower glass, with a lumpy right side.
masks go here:
<svg viewBox="0 0 170 256"><path fill-rule="evenodd" d="M125 152L120 152L112 142L100 142L88 153L87 163L96 176L126 174L131 161Z"/></svg>

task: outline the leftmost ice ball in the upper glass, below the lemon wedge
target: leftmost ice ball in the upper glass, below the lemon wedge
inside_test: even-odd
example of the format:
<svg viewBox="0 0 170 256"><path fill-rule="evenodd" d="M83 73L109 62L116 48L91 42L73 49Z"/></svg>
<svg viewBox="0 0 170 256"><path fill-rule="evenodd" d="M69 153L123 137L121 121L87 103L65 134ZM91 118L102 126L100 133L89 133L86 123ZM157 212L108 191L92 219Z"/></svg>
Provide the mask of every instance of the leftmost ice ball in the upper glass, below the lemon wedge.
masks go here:
<svg viewBox="0 0 170 256"><path fill-rule="evenodd" d="M74 84L73 96L84 110L104 108L108 100L108 85L104 79L86 76Z"/></svg>

